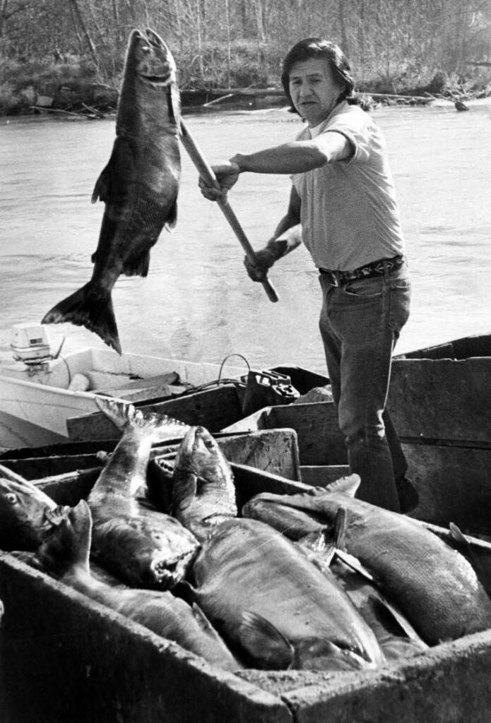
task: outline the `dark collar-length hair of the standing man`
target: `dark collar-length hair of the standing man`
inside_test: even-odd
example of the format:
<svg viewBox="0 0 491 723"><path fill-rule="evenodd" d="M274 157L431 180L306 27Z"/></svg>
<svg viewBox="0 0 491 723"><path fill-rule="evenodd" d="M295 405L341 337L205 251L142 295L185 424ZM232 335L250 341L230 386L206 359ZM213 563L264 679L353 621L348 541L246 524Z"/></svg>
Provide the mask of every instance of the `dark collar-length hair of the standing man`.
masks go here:
<svg viewBox="0 0 491 723"><path fill-rule="evenodd" d="M285 90L286 98L288 98L289 103L291 103L291 111L294 113L298 112L290 95L291 68L295 63L310 58L323 58L328 61L333 78L342 89L338 103L346 99L349 99L351 103L356 103L355 98L353 98L354 78L351 74L349 62L341 48L334 43L330 43L329 40L323 40L323 38L305 38L291 48L283 60L283 67L281 69L281 82Z"/></svg>

